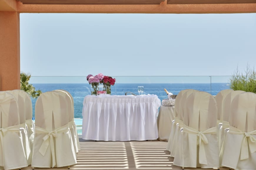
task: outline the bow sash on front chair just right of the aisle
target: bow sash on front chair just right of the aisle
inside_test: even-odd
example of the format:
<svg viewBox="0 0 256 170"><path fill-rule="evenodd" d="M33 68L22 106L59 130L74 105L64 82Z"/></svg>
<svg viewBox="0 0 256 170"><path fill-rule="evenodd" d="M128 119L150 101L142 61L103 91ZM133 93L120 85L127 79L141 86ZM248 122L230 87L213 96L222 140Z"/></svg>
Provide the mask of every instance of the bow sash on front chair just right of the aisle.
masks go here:
<svg viewBox="0 0 256 170"><path fill-rule="evenodd" d="M217 127L211 127L203 132L193 129L187 125L184 125L184 133L196 134L197 135L197 145L199 145L199 163L207 165L207 159L205 154L205 144L208 144L207 137L205 134L215 134L217 133Z"/></svg>

